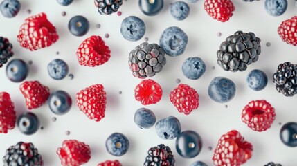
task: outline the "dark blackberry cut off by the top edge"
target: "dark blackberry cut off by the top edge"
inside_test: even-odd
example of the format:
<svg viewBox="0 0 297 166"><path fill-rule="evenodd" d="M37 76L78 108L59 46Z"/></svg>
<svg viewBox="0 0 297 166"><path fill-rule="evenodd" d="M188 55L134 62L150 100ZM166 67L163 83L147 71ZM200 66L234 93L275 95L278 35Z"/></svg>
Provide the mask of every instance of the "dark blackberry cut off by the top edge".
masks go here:
<svg viewBox="0 0 297 166"><path fill-rule="evenodd" d="M101 15L110 15L117 12L123 4L123 0L95 0L95 6Z"/></svg>

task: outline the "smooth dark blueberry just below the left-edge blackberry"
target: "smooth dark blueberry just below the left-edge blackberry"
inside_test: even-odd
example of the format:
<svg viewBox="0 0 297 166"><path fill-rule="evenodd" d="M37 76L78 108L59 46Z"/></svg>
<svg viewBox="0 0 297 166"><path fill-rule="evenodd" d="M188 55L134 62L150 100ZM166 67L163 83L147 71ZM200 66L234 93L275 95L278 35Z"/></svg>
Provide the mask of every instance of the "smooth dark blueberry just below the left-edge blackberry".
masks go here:
<svg viewBox="0 0 297 166"><path fill-rule="evenodd" d="M21 59L13 59L6 66L6 76L12 82L24 81L28 76L28 73L28 65Z"/></svg>

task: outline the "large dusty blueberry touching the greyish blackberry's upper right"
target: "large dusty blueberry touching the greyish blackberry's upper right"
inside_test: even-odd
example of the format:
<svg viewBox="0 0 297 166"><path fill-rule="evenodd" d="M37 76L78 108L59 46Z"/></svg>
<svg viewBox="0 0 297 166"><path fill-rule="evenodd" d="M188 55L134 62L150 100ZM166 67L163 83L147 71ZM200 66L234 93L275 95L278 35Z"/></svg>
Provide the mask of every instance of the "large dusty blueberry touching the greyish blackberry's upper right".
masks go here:
<svg viewBox="0 0 297 166"><path fill-rule="evenodd" d="M166 28L160 37L160 46L171 57L181 55L188 44L188 36L177 26Z"/></svg>

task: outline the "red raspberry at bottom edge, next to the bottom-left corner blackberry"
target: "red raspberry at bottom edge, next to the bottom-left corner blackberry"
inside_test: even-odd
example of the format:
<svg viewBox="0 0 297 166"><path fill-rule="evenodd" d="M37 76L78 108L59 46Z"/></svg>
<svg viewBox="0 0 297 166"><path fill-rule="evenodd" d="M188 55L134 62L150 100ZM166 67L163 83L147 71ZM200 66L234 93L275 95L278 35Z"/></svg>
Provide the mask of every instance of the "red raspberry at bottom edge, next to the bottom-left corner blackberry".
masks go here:
<svg viewBox="0 0 297 166"><path fill-rule="evenodd" d="M78 140L64 140L62 147L57 149L57 154L63 166L80 166L91 158L89 145Z"/></svg>

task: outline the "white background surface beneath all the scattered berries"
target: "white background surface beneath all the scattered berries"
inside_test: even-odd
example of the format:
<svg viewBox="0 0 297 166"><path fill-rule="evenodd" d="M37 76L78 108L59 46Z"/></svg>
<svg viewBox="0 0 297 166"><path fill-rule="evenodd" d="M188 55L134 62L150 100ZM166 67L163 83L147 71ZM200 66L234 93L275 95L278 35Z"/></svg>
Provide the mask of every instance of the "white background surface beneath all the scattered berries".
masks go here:
<svg viewBox="0 0 297 166"><path fill-rule="evenodd" d="M122 16L99 15L93 1L74 0L70 6L60 6L55 0L20 0L21 11L12 18L7 19L0 15L0 35L8 37L14 46L15 56L12 59L20 58L26 62L33 61L30 65L30 73L26 80L39 80L48 86L51 91L67 91L73 100L71 111L64 116L56 116L48 109L48 104L34 109L41 120L43 130L37 131L33 136L25 136L17 127L8 131L8 134L0 134L0 158L4 156L6 149L10 145L15 145L19 141L33 142L44 158L45 165L60 165L60 160L56 154L57 147L61 147L62 141L66 139L76 139L87 143L91 147L91 159L85 165L97 165L104 160L120 160L125 166L143 165L147 150L150 147L164 143L171 147L175 165L190 165L196 160L202 160L208 165L213 165L211 160L213 150L208 147L217 145L222 134L236 129L242 133L245 140L253 144L253 157L245 165L264 165L269 161L281 163L285 166L293 166L297 163L297 149L286 147L279 138L280 124L297 121L297 102L296 97L286 98L275 90L272 83L272 75L276 71L278 64L282 62L296 63L296 47L282 42L278 37L277 28L280 23L296 15L297 7L295 1L289 0L287 11L280 17L272 17L264 10L264 1L254 1L244 3L241 0L233 0L235 12L233 17L225 23L214 20L207 15L204 10L204 1L188 3L190 5L190 15L183 21L174 20L170 15L170 3L172 0L165 0L164 8L159 15L148 17L138 8L138 1L124 1L120 11ZM28 14L26 10L32 12ZM65 11L66 16L62 17L61 12ZM26 17L45 12L48 20L57 28L60 39L49 48L31 52L21 48L17 42L19 27ZM90 30L83 37L75 37L69 33L68 21L75 15L83 15L90 22ZM151 129L139 129L134 124L133 117L136 109L143 107L140 102L134 99L134 87L141 82L140 79L133 77L129 71L128 55L141 42L128 42L120 35L121 21L129 15L136 15L145 21L147 31L145 37L149 38L149 43L159 44L159 37L165 28L169 26L179 26L189 37L188 46L185 53L179 57L167 56L168 63L161 73L152 77L159 82L163 88L163 98L154 105L147 108L152 109L156 114L157 120L168 116L176 116L181 122L182 131L191 129L197 131L203 139L201 153L191 159L182 158L175 149L175 140L161 140L156 135L154 127ZM101 24L96 28L96 24ZM228 35L232 35L237 30L253 32L262 39L262 53L258 62L248 66L244 72L231 73L223 71L217 65L216 52L219 44ZM221 32L222 36L217 37ZM104 37L109 33L110 37ZM111 58L106 64L95 68L80 66L76 59L76 49L80 43L91 35L103 37L111 49ZM265 44L271 42L271 46ZM56 55L59 51L60 54ZM188 80L181 72L181 65L187 57L198 56L204 60L207 69L206 73L199 80ZM55 58L64 59L68 64L74 79L53 80L47 73L46 66ZM215 70L212 69L215 66ZM262 91L252 91L246 85L245 79L249 71L258 68L267 73L269 83ZM210 100L207 89L213 77L228 77L237 86L235 98L225 104L218 104ZM181 79L181 83L189 84L199 93L199 108L189 116L185 116L177 111L169 100L169 93L177 87L175 80ZM25 100L19 91L20 83L10 82L5 74L5 67L0 68L0 91L10 93L12 101L15 103L17 115L26 110ZM75 104L75 94L91 84L103 84L107 91L107 110L106 116L100 122L89 120L87 116L79 111ZM118 91L123 91L118 94ZM252 131L241 121L240 114L244 106L251 100L265 99L276 109L276 120L271 129L262 133ZM57 117L56 122L51 118ZM71 133L66 136L65 132ZM124 133L129 139L130 147L127 154L120 157L111 156L105 149L106 138L114 132Z"/></svg>

